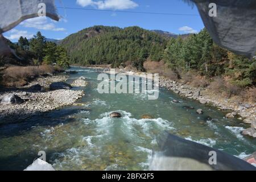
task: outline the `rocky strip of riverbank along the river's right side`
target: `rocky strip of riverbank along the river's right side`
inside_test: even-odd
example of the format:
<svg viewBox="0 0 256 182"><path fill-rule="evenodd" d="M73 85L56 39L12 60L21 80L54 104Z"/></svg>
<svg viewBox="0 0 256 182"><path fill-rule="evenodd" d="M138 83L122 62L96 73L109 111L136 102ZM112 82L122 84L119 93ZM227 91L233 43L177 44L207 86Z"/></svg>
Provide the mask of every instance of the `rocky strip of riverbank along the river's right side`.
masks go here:
<svg viewBox="0 0 256 182"><path fill-rule="evenodd" d="M98 71L102 71L104 73L110 73L110 68L106 67L92 67L92 69L97 69ZM130 71L125 68L115 69L115 73L134 76L142 76L143 74L143 72ZM238 102L237 100L214 93L212 90L207 88L195 88L191 85L183 84L180 81L174 81L163 76L159 77L159 86L162 86L168 90L172 90L172 92L179 94L182 97L197 100L201 104L209 104L215 106L227 113L227 117L237 117L247 124L250 124L256 119L255 103Z"/></svg>

